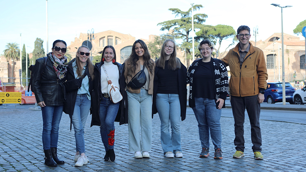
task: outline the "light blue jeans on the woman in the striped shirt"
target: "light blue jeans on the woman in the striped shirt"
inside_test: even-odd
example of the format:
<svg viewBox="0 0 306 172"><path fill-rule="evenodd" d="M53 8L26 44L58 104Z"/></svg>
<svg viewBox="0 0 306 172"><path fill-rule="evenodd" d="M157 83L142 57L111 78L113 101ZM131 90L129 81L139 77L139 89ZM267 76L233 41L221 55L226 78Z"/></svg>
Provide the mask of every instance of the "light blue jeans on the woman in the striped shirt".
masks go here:
<svg viewBox="0 0 306 172"><path fill-rule="evenodd" d="M74 136L76 138L77 152L80 152L80 154L85 153L84 128L90 106L91 101L88 100L86 94L77 94L72 115L72 124L74 128Z"/></svg>

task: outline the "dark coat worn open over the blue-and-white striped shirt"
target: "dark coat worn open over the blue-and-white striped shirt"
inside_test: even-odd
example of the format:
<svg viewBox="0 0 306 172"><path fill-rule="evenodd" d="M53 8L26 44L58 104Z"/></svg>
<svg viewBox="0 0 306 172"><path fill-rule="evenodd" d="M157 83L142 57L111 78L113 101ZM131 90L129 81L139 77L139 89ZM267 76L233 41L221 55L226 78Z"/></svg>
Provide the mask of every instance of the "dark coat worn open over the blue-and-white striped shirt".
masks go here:
<svg viewBox="0 0 306 172"><path fill-rule="evenodd" d="M68 63L68 67L67 67L67 74L66 74L66 80L72 80L75 79L74 77L74 73L73 73L73 68L72 68L72 63L75 61L76 59L72 59L69 63ZM89 65L87 63L87 65ZM87 75L88 76L88 75ZM93 89L93 81L91 79L91 76L88 76L88 82L89 82L89 93L92 97L92 89ZM69 87L68 85L65 84L66 87ZM76 103L76 99L77 99L77 90L71 91L71 92L66 92L66 100L64 101L64 112L66 114L69 114L70 118L73 115L73 111L74 111L74 105ZM92 99L92 98L91 98Z"/></svg>

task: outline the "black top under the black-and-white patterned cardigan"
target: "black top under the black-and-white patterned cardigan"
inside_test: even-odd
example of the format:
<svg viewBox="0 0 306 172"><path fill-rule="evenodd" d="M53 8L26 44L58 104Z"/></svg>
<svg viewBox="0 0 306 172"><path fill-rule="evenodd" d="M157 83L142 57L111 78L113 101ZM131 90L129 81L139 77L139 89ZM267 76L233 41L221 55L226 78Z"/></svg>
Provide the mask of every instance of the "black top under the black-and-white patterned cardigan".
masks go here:
<svg viewBox="0 0 306 172"><path fill-rule="evenodd" d="M198 69L193 75L194 97L214 99L213 74L211 73L210 62L200 60Z"/></svg>

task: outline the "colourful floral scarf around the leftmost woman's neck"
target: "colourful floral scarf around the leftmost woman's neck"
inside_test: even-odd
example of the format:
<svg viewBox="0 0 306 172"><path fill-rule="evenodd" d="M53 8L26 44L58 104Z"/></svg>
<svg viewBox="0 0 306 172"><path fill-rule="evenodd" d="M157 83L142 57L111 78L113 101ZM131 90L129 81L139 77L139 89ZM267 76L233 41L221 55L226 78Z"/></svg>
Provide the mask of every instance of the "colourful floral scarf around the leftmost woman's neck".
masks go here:
<svg viewBox="0 0 306 172"><path fill-rule="evenodd" d="M58 59L52 52L47 54L47 57L51 60L53 64L53 69L57 76L57 80L65 78L67 73L67 57L63 56L61 59Z"/></svg>

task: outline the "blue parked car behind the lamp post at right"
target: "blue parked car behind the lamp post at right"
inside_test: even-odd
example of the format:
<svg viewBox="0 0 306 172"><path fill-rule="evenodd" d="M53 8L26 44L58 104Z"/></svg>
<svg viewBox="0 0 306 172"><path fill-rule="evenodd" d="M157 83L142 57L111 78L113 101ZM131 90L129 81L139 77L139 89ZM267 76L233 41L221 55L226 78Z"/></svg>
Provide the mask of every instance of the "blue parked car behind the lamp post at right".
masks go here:
<svg viewBox="0 0 306 172"><path fill-rule="evenodd" d="M286 102L294 104L293 93L295 88L290 83L285 83ZM280 82L269 82L267 89L264 90L264 102L276 103L283 102L283 83Z"/></svg>

